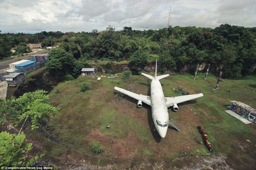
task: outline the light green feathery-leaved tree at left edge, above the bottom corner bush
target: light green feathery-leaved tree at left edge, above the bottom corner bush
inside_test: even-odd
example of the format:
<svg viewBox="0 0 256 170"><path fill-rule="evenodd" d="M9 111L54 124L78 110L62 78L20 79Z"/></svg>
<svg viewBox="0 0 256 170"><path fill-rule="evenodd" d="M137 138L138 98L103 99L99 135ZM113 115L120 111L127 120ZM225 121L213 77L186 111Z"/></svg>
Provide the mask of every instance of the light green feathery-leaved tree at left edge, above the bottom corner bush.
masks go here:
<svg viewBox="0 0 256 170"><path fill-rule="evenodd" d="M9 113L10 123L15 126L22 123L19 133L24 124L28 123L28 119L31 121L31 129L38 129L42 119L49 120L50 116L54 116L60 109L48 103L49 95L45 93L47 93L45 90L36 90L24 93L17 99L7 100L7 102L3 100L5 104L2 106Z"/></svg>

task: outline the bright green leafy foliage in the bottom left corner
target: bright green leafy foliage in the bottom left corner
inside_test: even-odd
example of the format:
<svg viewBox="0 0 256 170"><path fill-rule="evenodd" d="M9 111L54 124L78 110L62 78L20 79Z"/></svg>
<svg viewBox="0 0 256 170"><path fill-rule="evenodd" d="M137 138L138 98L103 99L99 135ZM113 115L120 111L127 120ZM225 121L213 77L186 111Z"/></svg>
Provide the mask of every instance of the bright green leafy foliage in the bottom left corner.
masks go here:
<svg viewBox="0 0 256 170"><path fill-rule="evenodd" d="M6 131L0 133L0 167L3 166L30 166L38 161L44 154L28 159L32 143L25 143L25 134L10 134Z"/></svg>

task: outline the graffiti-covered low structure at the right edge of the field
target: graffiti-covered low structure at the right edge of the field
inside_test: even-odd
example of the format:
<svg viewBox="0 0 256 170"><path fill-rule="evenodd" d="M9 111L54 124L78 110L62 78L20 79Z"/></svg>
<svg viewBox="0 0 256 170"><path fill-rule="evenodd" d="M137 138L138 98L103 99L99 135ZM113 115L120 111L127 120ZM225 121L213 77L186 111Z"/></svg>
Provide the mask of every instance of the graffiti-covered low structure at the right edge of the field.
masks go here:
<svg viewBox="0 0 256 170"><path fill-rule="evenodd" d="M233 112L236 112L237 114L246 118L247 120L249 120L251 122L256 121L256 114L253 112L250 112L246 108L241 107L240 105L236 105L236 104L232 104L231 108L232 108Z"/></svg>

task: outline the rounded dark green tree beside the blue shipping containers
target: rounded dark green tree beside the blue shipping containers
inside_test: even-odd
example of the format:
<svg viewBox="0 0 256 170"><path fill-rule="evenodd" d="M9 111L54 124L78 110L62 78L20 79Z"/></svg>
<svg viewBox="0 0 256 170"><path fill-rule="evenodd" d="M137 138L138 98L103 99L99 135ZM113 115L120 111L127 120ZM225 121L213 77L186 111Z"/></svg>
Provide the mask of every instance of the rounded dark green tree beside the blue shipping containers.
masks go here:
<svg viewBox="0 0 256 170"><path fill-rule="evenodd" d="M45 63L45 73L54 78L61 78L73 74L75 59L62 48L52 49L49 59Z"/></svg>

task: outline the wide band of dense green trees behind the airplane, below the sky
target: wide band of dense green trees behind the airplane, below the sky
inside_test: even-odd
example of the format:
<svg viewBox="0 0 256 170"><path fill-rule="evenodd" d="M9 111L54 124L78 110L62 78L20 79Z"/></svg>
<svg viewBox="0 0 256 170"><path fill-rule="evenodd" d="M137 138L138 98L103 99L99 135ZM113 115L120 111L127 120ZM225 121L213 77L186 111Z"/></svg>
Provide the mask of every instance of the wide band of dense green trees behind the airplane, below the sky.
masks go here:
<svg viewBox="0 0 256 170"><path fill-rule="evenodd" d="M222 70L224 78L241 78L255 73L255 35L255 27L245 28L229 24L214 29L170 26L147 31L133 30L131 27L115 31L114 27L109 26L101 32L69 32L64 36L58 31L0 34L0 58L8 56L6 49L14 44L24 42L25 39L35 42L32 37L37 36L43 41L43 46L60 42L60 47L64 49L53 52L52 56L55 57L47 64L48 73L52 77L69 76L70 79L71 75L86 65L86 60L129 60L131 70L138 72L147 63L159 59L163 72L183 72L187 71L184 68L193 68L197 63L210 63L210 71ZM4 43L5 41L9 44Z"/></svg>

